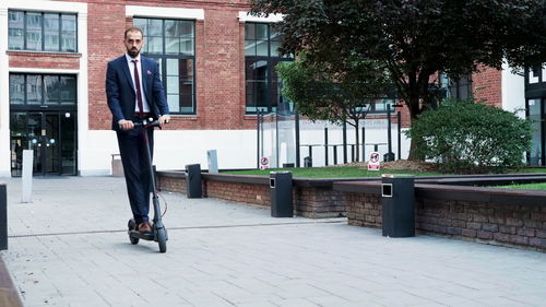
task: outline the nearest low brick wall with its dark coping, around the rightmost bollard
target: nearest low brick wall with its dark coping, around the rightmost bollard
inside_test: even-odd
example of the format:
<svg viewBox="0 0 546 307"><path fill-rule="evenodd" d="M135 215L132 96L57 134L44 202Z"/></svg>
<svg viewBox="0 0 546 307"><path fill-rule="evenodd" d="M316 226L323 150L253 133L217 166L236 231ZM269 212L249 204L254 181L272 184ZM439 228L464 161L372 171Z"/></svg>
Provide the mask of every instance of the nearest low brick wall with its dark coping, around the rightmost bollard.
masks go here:
<svg viewBox="0 0 546 307"><path fill-rule="evenodd" d="M341 188L344 184L336 185ZM379 184L372 189L357 184L345 190L347 219L351 225L381 227ZM426 187L425 187L426 186ZM427 190L428 189L428 190ZM430 189L435 189L434 193ZM440 190L444 190L441 197ZM353 190L353 192L351 191ZM453 190L458 190L459 193ZM464 190L466 190L464 192ZM476 198L480 201L451 198ZM495 197L505 194L505 197ZM506 196L517 193L518 196ZM427 197L428 194L428 197ZM434 194L434 196L432 196ZM490 194L489 198L486 196ZM538 199L543 199L538 201ZM415 229L420 234L475 240L492 245L518 246L546 251L546 193L544 191L507 191L477 187L416 185Z"/></svg>

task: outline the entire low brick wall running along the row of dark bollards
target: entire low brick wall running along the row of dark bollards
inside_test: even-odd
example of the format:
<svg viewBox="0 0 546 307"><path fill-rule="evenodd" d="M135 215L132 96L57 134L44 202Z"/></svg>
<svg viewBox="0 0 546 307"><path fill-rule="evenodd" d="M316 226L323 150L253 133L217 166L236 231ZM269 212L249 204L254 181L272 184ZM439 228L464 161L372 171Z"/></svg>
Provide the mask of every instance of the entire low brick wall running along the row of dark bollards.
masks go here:
<svg viewBox="0 0 546 307"><path fill-rule="evenodd" d="M544 180L546 176L523 176ZM513 178L475 177L477 181L507 181ZM536 178L535 178L536 177ZM538 178L539 177L539 178ZM162 190L186 193L183 172L159 172ZM449 181L450 185L437 185ZM546 251L546 191L451 186L454 177L419 179L415 186L415 221L419 234L436 234L494 245ZM204 197L269 209L269 178L202 174ZM348 224L381 227L380 184L377 179L294 179L294 211L306 217L347 216Z"/></svg>

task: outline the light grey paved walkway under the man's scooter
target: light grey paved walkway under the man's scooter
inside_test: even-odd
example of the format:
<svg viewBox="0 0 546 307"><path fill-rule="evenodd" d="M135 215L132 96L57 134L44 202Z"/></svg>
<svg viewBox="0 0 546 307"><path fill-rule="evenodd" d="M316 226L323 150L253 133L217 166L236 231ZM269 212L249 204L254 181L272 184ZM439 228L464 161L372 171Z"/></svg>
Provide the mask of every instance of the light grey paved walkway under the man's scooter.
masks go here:
<svg viewBox="0 0 546 307"><path fill-rule="evenodd" d="M0 180L1 181L1 180ZM384 238L342 219L165 193L167 252L129 243L124 181L8 182L9 250L26 307L545 306L546 255L441 237Z"/></svg>

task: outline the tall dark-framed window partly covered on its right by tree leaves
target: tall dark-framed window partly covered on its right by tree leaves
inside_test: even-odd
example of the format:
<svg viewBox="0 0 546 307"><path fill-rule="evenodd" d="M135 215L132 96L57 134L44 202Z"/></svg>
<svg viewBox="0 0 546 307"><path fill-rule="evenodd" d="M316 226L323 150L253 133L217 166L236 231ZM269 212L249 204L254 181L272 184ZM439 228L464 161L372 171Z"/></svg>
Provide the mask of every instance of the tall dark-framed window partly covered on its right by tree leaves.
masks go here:
<svg viewBox="0 0 546 307"><path fill-rule="evenodd" d="M245 91L248 114L272 111L283 101L275 66L281 61L292 61L293 57L280 57L277 49L281 44L282 35L272 25L245 24Z"/></svg>

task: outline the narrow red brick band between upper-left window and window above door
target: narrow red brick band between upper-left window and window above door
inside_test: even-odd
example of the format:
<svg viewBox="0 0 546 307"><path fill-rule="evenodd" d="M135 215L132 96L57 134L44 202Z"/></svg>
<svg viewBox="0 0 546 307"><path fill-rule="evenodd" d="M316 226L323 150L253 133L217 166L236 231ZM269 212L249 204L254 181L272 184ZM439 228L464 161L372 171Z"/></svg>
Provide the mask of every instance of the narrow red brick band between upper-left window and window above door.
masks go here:
<svg viewBox="0 0 546 307"><path fill-rule="evenodd" d="M80 69L80 54L8 51L10 68Z"/></svg>

